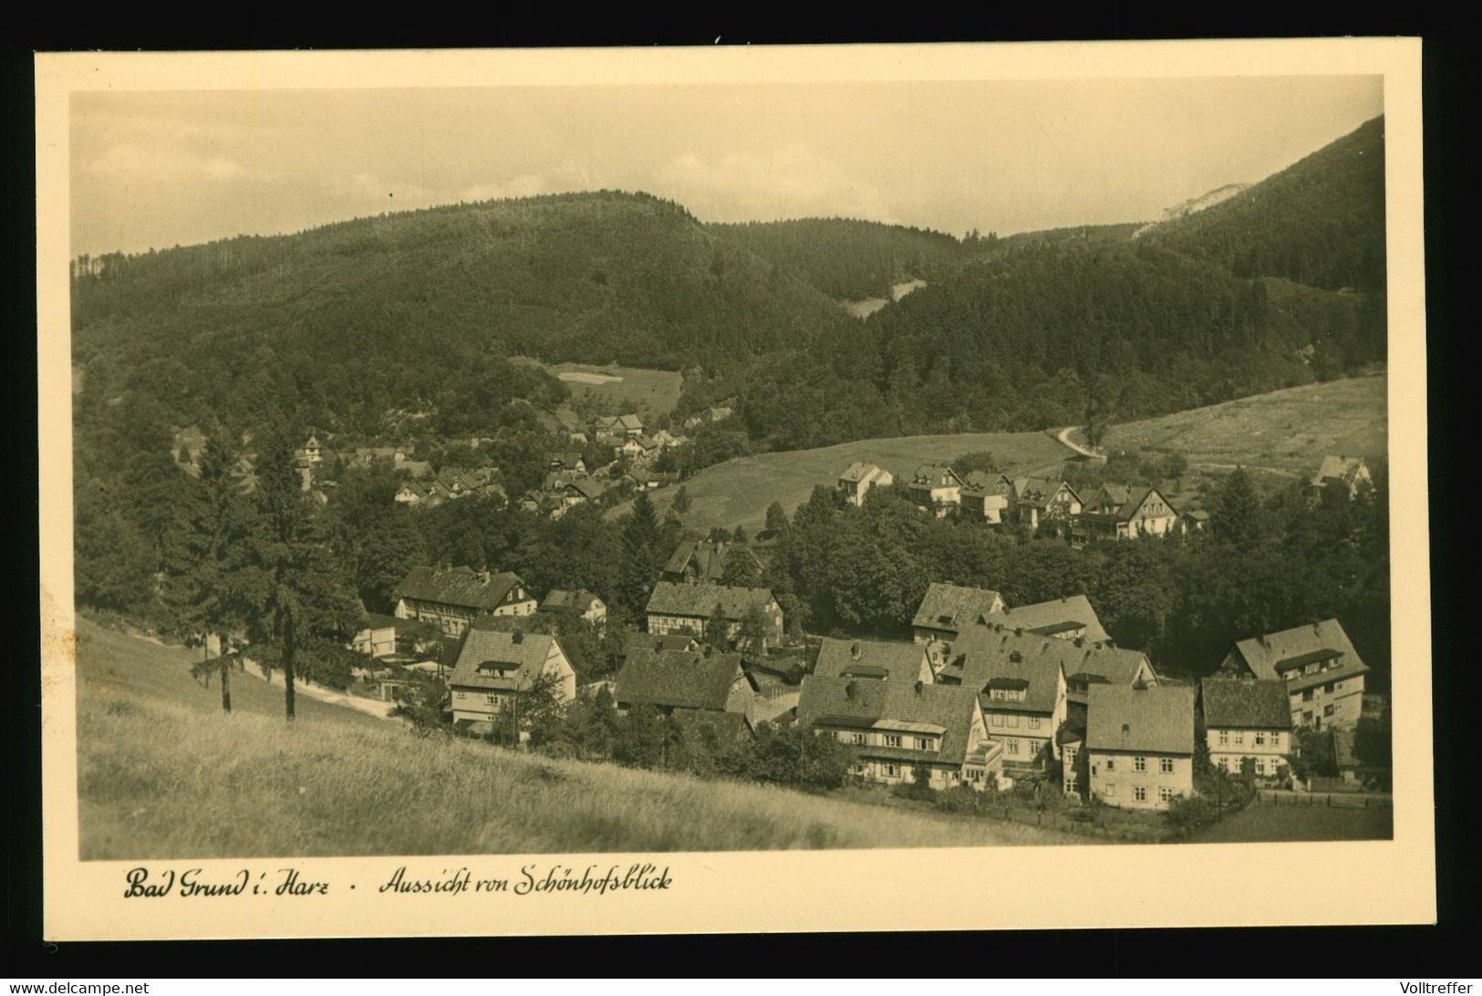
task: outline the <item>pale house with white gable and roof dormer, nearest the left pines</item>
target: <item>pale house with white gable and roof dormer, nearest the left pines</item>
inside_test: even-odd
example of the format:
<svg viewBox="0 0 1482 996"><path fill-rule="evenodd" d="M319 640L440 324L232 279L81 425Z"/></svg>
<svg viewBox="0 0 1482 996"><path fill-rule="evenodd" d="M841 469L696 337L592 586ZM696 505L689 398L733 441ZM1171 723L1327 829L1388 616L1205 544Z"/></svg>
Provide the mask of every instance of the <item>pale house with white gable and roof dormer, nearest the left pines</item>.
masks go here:
<svg viewBox="0 0 1482 996"><path fill-rule="evenodd" d="M576 671L560 640L545 633L473 625L448 679L453 725L470 735L489 735L501 723L522 725L522 703L541 682L556 698L576 698ZM525 740L523 729L519 738Z"/></svg>

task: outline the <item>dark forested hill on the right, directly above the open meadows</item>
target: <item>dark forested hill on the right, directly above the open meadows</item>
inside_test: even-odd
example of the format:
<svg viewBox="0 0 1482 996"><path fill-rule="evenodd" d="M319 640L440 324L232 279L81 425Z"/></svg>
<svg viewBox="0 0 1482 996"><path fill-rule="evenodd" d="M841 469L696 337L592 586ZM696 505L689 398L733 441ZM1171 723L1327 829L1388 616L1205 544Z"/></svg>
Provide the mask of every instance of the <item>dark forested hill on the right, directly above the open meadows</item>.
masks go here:
<svg viewBox="0 0 1482 996"><path fill-rule="evenodd" d="M748 428L777 448L1212 405L1381 360L1384 316L1150 243L1051 242L968 262L809 348L742 393Z"/></svg>

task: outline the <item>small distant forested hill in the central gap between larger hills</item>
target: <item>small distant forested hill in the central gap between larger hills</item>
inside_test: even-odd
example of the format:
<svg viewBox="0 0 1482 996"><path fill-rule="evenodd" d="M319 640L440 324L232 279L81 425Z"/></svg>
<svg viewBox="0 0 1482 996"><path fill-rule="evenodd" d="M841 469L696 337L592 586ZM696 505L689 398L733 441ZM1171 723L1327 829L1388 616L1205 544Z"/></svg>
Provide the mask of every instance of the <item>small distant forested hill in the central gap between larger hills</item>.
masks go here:
<svg viewBox="0 0 1482 996"><path fill-rule="evenodd" d="M928 228L845 218L754 221L707 225L836 301L888 298L891 285L929 279L993 245L993 237L953 236Z"/></svg>

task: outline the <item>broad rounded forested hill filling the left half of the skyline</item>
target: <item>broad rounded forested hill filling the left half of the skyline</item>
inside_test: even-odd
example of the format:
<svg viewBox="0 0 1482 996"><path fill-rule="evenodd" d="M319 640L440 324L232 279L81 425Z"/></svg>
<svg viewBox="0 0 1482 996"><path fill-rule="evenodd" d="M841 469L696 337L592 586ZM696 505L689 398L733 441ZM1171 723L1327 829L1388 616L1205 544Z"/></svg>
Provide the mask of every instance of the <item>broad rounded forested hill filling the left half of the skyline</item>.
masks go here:
<svg viewBox="0 0 1482 996"><path fill-rule="evenodd" d="M82 259L73 279L89 391L147 385L178 424L203 408L362 430L388 408L491 412L560 391L505 356L725 369L846 322L682 206L611 191Z"/></svg>

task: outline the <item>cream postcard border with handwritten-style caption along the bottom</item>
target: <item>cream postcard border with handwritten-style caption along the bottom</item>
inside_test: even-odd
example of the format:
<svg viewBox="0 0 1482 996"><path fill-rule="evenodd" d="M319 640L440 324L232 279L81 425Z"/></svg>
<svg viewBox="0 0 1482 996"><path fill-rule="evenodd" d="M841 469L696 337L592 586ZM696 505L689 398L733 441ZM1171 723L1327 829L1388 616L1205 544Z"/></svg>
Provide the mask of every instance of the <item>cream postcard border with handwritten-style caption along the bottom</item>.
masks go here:
<svg viewBox="0 0 1482 996"><path fill-rule="evenodd" d="M590 50L39 55L36 90L44 937L49 940L914 931L1436 919L1426 495L1418 39ZM139 863L77 860L73 643L68 110L80 90L1178 79L1383 74L1389 234L1389 461L1395 840L648 855L151 861L227 877L296 867L329 895L124 900ZM1252 135L1252 141L1258 136ZM468 867L651 861L652 892L397 895ZM1310 869L1310 870L1309 870ZM1317 870L1323 872L1317 872ZM1315 874L1316 873L1316 874ZM357 888L351 891L348 886Z"/></svg>

